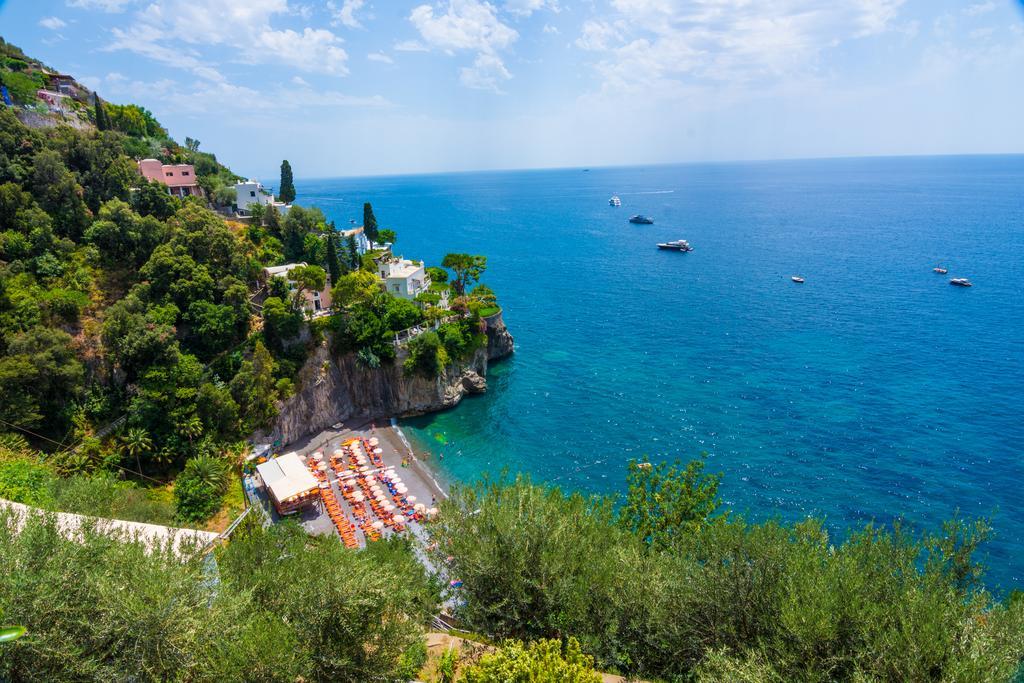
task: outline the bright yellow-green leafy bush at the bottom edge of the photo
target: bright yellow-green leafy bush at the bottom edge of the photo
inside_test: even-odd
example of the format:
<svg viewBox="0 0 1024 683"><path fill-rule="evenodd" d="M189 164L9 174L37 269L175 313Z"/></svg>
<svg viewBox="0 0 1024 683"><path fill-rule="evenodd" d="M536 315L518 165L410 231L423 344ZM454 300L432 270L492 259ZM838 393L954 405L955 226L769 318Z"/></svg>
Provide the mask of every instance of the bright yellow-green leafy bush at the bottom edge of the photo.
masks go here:
<svg viewBox="0 0 1024 683"><path fill-rule="evenodd" d="M601 683L594 658L583 653L569 638L542 640L528 645L509 641L497 652L486 653L467 668L464 683Z"/></svg>

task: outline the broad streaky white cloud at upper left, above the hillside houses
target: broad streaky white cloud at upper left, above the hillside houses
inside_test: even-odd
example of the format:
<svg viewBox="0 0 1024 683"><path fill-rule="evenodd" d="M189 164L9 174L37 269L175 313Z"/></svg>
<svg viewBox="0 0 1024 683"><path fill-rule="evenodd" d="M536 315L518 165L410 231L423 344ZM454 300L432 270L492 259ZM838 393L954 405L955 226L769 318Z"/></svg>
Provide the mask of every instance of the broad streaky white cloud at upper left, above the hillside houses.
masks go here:
<svg viewBox="0 0 1024 683"><path fill-rule="evenodd" d="M301 71L344 76L348 54L326 29L275 30L271 19L287 14L287 0L154 0L130 28L114 29L111 50L128 50L201 78L223 78L204 61L200 46L226 46L246 63L284 63Z"/></svg>

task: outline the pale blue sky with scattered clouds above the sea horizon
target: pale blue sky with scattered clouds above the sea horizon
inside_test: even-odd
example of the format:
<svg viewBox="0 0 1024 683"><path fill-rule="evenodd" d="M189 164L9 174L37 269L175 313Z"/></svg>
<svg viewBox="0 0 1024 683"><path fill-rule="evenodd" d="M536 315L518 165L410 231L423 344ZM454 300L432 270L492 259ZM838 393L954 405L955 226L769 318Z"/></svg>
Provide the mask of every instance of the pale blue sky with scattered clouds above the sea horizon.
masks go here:
<svg viewBox="0 0 1024 683"><path fill-rule="evenodd" d="M0 0L273 178L1024 153L1022 0Z"/></svg>

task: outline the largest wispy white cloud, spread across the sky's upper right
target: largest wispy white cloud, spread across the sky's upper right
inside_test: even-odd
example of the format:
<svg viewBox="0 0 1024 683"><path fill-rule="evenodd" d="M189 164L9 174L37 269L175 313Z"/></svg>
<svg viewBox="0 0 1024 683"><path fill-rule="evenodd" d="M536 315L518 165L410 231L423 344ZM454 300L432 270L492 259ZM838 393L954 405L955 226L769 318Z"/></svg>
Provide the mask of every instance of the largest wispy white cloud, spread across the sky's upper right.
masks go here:
<svg viewBox="0 0 1024 683"><path fill-rule="evenodd" d="M603 53L609 90L684 83L750 85L813 77L816 57L891 29L904 0L611 0L577 45Z"/></svg>

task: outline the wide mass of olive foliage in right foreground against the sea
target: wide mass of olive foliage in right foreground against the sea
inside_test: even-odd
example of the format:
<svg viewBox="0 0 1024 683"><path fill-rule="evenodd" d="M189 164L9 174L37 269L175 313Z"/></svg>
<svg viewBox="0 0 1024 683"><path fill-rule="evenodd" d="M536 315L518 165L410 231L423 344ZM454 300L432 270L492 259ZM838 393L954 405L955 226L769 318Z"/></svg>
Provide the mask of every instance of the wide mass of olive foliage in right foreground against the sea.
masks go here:
<svg viewBox="0 0 1024 683"><path fill-rule="evenodd" d="M617 509L523 478L457 487L431 527L434 559L462 582L469 629L573 637L632 676L980 683L1018 671L1024 601L981 584L983 522L833 538L816 519L711 514L717 478L705 476L634 471Z"/></svg>

